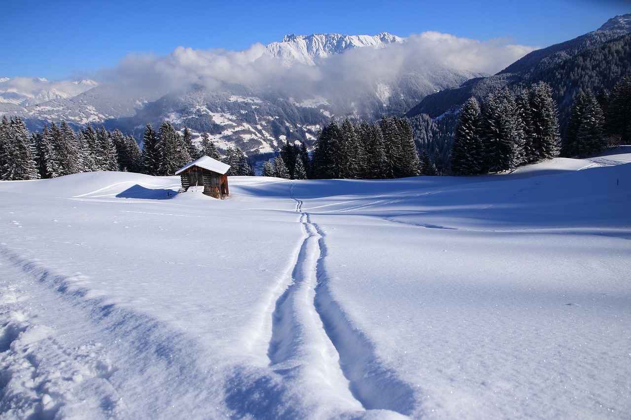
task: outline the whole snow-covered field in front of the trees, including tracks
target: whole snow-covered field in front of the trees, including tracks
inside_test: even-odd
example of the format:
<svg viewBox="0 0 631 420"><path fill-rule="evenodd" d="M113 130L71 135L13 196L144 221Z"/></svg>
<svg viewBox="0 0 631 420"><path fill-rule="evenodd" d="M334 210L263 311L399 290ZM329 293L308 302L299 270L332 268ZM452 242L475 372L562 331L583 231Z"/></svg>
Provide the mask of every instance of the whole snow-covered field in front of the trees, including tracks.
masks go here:
<svg viewBox="0 0 631 420"><path fill-rule="evenodd" d="M628 418L631 148L403 180L0 183L0 417ZM626 163L626 164L625 164Z"/></svg>

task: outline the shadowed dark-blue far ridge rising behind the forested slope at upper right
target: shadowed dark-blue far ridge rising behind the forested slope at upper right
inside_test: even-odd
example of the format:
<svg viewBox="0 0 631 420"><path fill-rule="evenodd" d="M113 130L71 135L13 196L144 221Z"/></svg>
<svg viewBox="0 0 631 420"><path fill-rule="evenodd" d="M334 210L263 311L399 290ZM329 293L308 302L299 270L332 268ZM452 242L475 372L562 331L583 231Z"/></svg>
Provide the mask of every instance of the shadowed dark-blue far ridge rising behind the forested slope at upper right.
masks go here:
<svg viewBox="0 0 631 420"><path fill-rule="evenodd" d="M524 57L493 76L471 79L458 88L428 95L423 98L420 103L415 105L415 107L411 108L411 110L406 113L406 116L411 118L419 114L428 114L432 118L439 117L445 112L455 112L471 96L476 96L479 99L488 95L493 90L504 86L515 86L519 85L519 83L534 83L539 80L545 81L545 77L542 77L542 75L546 74L546 72L553 72L557 67L572 66L573 60L580 61L584 59L584 57L581 57L581 54L598 55L600 52L599 49L608 48L605 44L622 39L629 33L631 33L631 14L616 16L608 20L594 32L589 32L573 40L551 45L550 47L526 54ZM626 64L622 64L627 67L627 72L628 62L629 61L627 61ZM603 60L599 63L594 63L594 67L600 67L605 73L608 72L610 66L610 62ZM625 75L626 74L622 74L622 76ZM562 83L572 83L571 78L575 77L575 75L568 75L567 77L570 79L565 79ZM615 83L615 81L613 83ZM593 85L606 88L613 87L613 85L599 85L598 81L594 81ZM552 86L553 89L557 87L560 87L560 85ZM565 90L563 97L560 97L557 93L555 99L559 103L567 102L567 95L571 98L573 94L574 90Z"/></svg>

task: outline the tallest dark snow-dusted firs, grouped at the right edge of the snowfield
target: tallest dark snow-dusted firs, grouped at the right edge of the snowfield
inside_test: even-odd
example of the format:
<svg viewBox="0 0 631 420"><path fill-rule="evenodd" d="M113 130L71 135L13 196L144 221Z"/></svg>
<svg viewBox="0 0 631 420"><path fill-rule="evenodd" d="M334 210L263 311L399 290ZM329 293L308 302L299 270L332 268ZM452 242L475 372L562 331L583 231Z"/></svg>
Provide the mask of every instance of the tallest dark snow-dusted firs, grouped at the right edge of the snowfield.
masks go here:
<svg viewBox="0 0 631 420"><path fill-rule="evenodd" d="M472 175L512 170L553 156L585 158L628 141L631 78L613 90L579 91L561 139L557 103L544 82L517 94L502 88L461 110L451 149L451 173Z"/></svg>

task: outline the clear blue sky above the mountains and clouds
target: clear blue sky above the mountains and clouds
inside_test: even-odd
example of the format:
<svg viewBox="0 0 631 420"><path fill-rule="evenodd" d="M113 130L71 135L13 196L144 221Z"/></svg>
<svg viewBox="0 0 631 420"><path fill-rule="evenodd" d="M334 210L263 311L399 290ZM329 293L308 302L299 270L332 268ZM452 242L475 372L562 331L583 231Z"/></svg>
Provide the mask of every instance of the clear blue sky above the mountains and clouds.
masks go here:
<svg viewBox="0 0 631 420"><path fill-rule="evenodd" d="M624 13L631 13L631 0L9 0L0 77L90 77L129 54L165 55L180 45L242 50L287 33L407 37L433 30L546 47Z"/></svg>

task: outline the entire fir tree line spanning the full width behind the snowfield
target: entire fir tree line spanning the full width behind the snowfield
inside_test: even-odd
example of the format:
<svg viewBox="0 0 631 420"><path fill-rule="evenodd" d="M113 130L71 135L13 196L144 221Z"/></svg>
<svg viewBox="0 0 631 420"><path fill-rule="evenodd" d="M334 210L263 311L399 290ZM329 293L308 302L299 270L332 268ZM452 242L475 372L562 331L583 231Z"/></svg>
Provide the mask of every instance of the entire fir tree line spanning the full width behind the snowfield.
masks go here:
<svg viewBox="0 0 631 420"><path fill-rule="evenodd" d="M501 88L481 101L469 98L456 124L446 118L434 122L415 117L413 122L397 117L382 117L374 124L331 120L319 132L311 154L304 142L287 140L280 154L264 163L261 175L292 179L473 175L512 170L558 155L594 155L629 140L631 78L620 79L611 91L601 89L598 95L581 90L562 141L557 104L543 82L516 93ZM450 141L441 143L438 139L445 133ZM118 129L95 129L88 123L74 132L62 120L29 134L19 117L5 115L0 123L0 180L99 170L173 175L203 155L230 165L228 175L254 175L239 148L229 147L222 158L206 132L199 146L193 144L188 128L180 134L167 121L158 131L146 125L140 149L133 136Z"/></svg>

